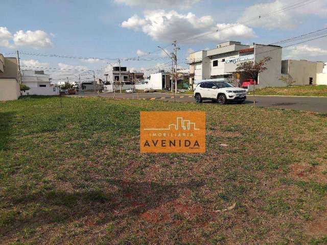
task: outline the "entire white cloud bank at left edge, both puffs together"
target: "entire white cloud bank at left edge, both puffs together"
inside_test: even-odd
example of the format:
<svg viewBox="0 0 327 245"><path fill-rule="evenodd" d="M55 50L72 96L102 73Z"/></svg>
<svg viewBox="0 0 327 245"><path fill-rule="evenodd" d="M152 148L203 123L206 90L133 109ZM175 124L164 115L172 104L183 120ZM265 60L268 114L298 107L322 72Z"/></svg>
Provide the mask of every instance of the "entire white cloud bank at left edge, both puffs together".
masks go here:
<svg viewBox="0 0 327 245"><path fill-rule="evenodd" d="M19 30L14 35L6 27L0 27L0 46L16 48L28 46L35 49L50 48L53 46L48 33L41 30L24 32Z"/></svg>

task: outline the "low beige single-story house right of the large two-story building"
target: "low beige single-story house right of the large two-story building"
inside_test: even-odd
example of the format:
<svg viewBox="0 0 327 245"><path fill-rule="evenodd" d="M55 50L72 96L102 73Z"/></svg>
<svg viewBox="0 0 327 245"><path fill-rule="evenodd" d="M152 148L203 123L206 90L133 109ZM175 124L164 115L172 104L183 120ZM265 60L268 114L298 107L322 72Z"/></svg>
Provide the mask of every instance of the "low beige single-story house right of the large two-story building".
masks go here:
<svg viewBox="0 0 327 245"><path fill-rule="evenodd" d="M293 85L318 85L322 74L323 62L307 60L283 60L282 74L288 74L295 81Z"/></svg>

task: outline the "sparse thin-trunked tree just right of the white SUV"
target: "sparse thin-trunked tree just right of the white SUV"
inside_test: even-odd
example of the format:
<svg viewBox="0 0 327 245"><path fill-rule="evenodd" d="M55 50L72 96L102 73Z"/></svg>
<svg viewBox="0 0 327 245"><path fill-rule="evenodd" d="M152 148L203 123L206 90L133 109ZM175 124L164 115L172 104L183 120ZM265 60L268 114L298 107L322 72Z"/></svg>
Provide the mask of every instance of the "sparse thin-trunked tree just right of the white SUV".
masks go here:
<svg viewBox="0 0 327 245"><path fill-rule="evenodd" d="M241 64L237 65L237 71L243 71L249 75L251 79L254 79L253 85L253 104L255 105L255 84L258 81L258 77L260 72L263 72L267 69L265 66L268 61L271 60L271 57L265 57L264 59L260 60L259 62L253 61L245 61Z"/></svg>

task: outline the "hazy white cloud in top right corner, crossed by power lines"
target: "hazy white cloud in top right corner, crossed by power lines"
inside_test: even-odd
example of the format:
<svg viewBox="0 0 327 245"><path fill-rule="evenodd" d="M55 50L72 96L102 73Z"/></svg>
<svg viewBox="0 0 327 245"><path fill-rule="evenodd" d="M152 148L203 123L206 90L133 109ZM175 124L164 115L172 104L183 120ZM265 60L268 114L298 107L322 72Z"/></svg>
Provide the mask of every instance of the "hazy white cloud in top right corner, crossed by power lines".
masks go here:
<svg viewBox="0 0 327 245"><path fill-rule="evenodd" d="M266 4L255 4L246 8L238 21L245 21L245 23L249 23L251 27L292 29L298 26L300 18L303 18L304 15L318 15L320 17L325 17L327 15L327 1L325 0L317 0L306 5L294 5L297 3L298 0L275 0L274 2ZM273 13L268 17L264 15L292 5L294 7L299 7L290 8L288 11ZM258 18L257 20L251 19L260 14L263 15L262 18Z"/></svg>

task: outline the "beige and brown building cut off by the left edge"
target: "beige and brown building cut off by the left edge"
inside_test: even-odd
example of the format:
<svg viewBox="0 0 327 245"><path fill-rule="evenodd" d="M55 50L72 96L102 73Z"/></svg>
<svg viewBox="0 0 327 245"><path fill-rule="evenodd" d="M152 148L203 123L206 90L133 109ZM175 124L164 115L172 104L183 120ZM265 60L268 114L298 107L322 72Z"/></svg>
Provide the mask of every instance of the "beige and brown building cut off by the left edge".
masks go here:
<svg viewBox="0 0 327 245"><path fill-rule="evenodd" d="M0 101L17 100L19 96L17 59L0 54Z"/></svg>

